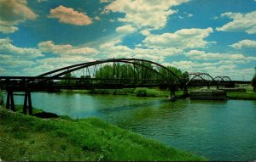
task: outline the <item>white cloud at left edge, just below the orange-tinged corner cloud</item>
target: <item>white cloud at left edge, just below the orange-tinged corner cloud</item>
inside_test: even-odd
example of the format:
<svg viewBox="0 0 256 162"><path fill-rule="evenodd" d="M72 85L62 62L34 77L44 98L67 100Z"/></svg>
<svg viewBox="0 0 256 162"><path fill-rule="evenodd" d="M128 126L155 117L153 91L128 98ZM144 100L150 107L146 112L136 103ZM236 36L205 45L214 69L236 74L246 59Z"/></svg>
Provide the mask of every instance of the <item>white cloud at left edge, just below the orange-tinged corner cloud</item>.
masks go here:
<svg viewBox="0 0 256 162"><path fill-rule="evenodd" d="M16 47L9 38L0 39L0 54L15 55L16 59L32 59L44 56L37 48Z"/></svg>

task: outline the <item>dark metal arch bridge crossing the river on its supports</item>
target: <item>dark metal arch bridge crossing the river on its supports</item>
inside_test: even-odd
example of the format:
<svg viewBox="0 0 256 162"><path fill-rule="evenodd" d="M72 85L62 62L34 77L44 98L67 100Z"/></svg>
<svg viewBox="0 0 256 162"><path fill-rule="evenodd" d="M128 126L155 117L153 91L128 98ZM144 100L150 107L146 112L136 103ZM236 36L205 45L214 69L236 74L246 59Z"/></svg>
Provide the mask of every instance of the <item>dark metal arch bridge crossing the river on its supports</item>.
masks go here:
<svg viewBox="0 0 256 162"><path fill-rule="evenodd" d="M191 74L193 75L193 74ZM31 92L59 89L118 89L134 87L169 88L175 96L177 87L227 84L226 77L208 80L205 73L196 73L187 83L172 70L144 59L102 59L74 64L38 76L0 76L0 88L7 91L6 108L15 111L14 92L25 92L23 113L32 115ZM198 80L196 78L200 78ZM218 80L219 79L219 80ZM218 80L218 81L217 81ZM234 81L231 81L234 84ZM230 82L229 82L230 83Z"/></svg>

